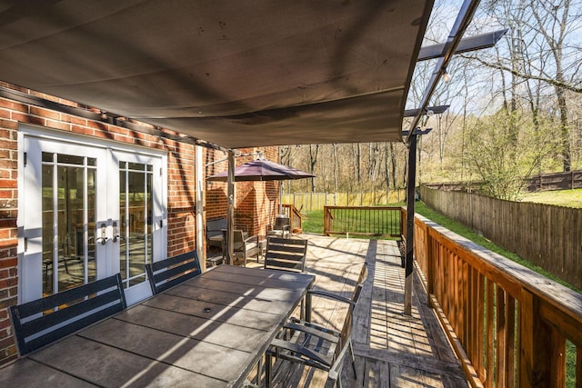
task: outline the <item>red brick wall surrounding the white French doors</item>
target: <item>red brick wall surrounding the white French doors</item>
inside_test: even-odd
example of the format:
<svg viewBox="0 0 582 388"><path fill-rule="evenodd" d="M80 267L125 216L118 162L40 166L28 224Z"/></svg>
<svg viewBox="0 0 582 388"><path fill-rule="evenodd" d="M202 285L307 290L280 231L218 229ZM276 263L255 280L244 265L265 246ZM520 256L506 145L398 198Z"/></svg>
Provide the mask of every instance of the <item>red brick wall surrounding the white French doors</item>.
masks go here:
<svg viewBox="0 0 582 388"><path fill-rule="evenodd" d="M0 83L0 86L9 86ZM22 91L22 89L21 89ZM61 104L74 103L49 97ZM17 303L17 131L19 124L36 124L58 131L137 144L167 152L168 255L196 246L195 146L165 137L144 134L103 122L88 120L33 105L0 98L0 364L16 358L7 307ZM168 134L173 134L166 131Z"/></svg>

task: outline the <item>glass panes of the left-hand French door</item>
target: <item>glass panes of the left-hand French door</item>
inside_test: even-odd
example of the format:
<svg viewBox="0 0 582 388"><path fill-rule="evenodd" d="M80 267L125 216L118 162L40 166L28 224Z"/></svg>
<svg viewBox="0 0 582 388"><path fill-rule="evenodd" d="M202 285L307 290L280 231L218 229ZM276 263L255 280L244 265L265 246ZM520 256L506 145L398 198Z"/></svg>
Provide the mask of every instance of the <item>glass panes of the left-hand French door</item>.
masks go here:
<svg viewBox="0 0 582 388"><path fill-rule="evenodd" d="M95 280L95 158L42 154L43 295Z"/></svg>

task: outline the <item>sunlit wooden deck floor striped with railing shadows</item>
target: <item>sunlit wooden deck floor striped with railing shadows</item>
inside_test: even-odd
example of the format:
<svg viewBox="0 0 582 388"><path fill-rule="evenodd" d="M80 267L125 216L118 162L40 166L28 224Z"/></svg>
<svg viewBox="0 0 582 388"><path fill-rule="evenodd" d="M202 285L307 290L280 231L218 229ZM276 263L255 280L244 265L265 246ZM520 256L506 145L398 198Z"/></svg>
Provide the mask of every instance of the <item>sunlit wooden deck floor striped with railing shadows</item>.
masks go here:
<svg viewBox="0 0 582 388"><path fill-rule="evenodd" d="M344 387L467 387L465 374L418 286L413 314L404 316L404 269L396 242L322 237L309 240L306 269L316 274L316 288L349 296L364 261L368 278L356 309L355 379L349 357L342 372ZM252 262L252 261L251 261ZM256 262L249 266L260 265ZM314 299L313 320L343 321L346 310ZM326 373L290 363L276 363L277 387L323 387Z"/></svg>

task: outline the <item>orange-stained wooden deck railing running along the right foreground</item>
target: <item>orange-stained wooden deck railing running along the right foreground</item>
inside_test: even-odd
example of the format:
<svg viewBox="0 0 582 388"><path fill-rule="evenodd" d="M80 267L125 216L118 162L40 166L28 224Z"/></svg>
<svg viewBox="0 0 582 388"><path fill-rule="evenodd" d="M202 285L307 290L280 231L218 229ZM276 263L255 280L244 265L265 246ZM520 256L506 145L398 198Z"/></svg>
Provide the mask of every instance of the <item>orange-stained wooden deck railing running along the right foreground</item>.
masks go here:
<svg viewBox="0 0 582 388"><path fill-rule="evenodd" d="M582 294L419 215L414 252L473 386L582 387Z"/></svg>

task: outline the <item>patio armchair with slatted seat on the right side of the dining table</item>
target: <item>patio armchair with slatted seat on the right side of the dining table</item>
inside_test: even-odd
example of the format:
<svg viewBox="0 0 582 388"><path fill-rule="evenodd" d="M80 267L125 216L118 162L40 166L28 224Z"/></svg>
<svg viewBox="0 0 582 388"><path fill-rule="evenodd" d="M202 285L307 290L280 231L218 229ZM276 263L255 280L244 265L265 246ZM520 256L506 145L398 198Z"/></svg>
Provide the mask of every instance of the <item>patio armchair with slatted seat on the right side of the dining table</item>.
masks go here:
<svg viewBox="0 0 582 388"><path fill-rule="evenodd" d="M352 349L351 333L354 326L354 311L363 283L367 276L367 266L364 264L356 288L351 298L336 295L334 293L309 291L312 295L334 299L340 303L348 304L348 311L341 331L335 331L322 325L311 323L308 320L291 318L284 324L283 330L277 333L275 340L266 351L265 379L266 387L271 386L272 358L286 360L291 363L301 363L326 371L327 378L336 382L336 386L341 387L341 371L344 357L349 351L352 358L352 368L356 378L356 360Z"/></svg>

